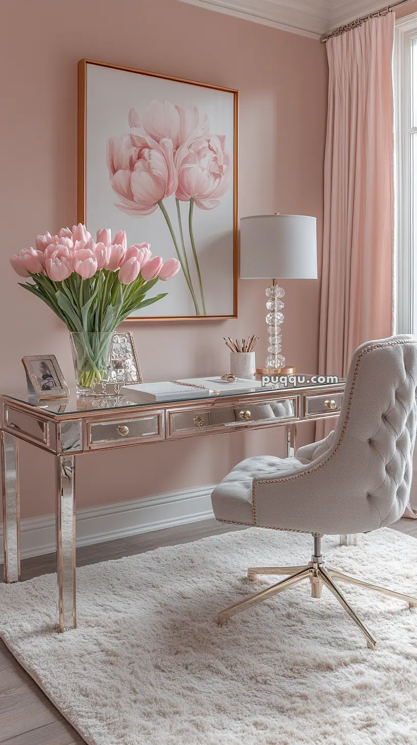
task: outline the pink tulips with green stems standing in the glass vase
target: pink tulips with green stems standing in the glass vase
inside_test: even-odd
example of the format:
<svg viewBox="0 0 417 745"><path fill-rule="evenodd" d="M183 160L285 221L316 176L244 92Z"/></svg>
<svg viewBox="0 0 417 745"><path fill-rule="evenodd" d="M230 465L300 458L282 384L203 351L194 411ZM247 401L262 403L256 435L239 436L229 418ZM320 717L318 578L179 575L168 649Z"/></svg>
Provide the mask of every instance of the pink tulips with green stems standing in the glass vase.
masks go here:
<svg viewBox="0 0 417 745"><path fill-rule="evenodd" d="M110 230L98 230L95 242L81 224L58 235L38 235L36 248L19 251L10 264L19 276L33 280L21 287L66 323L77 353L77 382L85 389L103 381L116 327L132 311L165 297L145 295L180 268L177 259L152 259L147 243L127 247L124 230L113 241Z"/></svg>

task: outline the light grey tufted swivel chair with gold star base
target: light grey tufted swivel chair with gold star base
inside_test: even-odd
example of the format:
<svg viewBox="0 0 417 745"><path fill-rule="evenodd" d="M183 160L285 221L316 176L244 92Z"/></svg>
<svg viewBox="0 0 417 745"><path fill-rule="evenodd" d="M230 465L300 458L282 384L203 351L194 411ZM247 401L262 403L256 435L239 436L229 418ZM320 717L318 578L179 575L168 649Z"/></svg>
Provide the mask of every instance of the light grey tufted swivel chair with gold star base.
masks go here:
<svg viewBox="0 0 417 745"><path fill-rule="evenodd" d="M417 338L370 341L354 353L337 428L295 457L251 457L223 479L211 495L220 522L312 533L311 562L299 567L257 567L256 574L290 575L272 587L220 612L223 624L246 608L309 579L311 595L323 584L366 636L376 640L349 605L335 580L366 586L417 606L402 595L326 568L323 534L366 533L392 524L410 496L416 440Z"/></svg>

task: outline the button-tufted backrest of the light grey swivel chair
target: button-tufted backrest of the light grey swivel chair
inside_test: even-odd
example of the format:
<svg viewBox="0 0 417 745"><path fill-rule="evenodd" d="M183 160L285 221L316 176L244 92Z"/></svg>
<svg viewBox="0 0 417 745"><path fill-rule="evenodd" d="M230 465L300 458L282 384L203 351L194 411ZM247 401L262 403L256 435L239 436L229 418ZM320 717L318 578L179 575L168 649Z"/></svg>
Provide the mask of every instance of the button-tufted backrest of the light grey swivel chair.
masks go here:
<svg viewBox="0 0 417 745"><path fill-rule="evenodd" d="M398 519L410 497L416 390L416 337L393 336L358 347L331 450L340 465L348 463L353 489L361 485L381 525Z"/></svg>

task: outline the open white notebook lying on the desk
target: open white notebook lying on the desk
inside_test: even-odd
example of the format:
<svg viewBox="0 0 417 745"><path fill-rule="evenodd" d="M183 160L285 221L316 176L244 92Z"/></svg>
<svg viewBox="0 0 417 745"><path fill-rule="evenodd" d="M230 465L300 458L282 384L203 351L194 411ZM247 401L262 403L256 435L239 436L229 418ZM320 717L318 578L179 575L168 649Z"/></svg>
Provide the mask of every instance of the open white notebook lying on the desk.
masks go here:
<svg viewBox="0 0 417 745"><path fill-rule="evenodd" d="M246 393L249 390L261 388L260 380L238 378L234 383L222 381L220 375L212 378L181 378L177 381L162 381L157 383L136 383L126 385L121 393L126 393L133 401L163 402L181 399L206 398L213 393Z"/></svg>

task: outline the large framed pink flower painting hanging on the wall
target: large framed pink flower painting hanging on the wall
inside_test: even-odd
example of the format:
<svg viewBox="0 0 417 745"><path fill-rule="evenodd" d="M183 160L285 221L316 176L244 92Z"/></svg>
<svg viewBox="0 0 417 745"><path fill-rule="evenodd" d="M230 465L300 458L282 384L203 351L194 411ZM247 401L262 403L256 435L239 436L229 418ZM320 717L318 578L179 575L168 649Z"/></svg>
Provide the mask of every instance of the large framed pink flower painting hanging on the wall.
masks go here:
<svg viewBox="0 0 417 745"><path fill-rule="evenodd" d="M127 320L237 317L238 92L80 60L78 96L78 221L181 264Z"/></svg>

